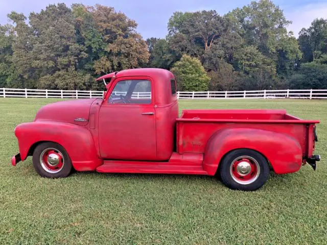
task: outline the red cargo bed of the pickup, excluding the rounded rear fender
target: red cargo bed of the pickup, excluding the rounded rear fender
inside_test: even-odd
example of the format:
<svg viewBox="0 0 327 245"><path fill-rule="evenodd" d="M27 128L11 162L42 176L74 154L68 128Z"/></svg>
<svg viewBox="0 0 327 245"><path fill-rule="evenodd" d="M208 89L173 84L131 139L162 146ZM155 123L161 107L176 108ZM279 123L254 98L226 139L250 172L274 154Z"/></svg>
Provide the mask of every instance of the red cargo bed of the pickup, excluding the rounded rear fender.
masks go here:
<svg viewBox="0 0 327 245"><path fill-rule="evenodd" d="M286 110L184 110L177 118L177 152L204 153L208 139L215 132L226 128L250 128L294 137L303 155L310 155L314 149L314 124L318 123L318 120L302 120L289 115Z"/></svg>

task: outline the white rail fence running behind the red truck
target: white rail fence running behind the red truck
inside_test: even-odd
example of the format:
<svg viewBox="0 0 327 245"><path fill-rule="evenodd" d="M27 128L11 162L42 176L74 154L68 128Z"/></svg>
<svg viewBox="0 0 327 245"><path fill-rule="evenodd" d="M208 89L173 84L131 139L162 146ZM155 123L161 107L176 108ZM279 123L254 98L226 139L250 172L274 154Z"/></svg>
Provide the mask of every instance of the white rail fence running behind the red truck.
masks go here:
<svg viewBox="0 0 327 245"><path fill-rule="evenodd" d="M39 98L96 98L102 97L103 91L92 90L52 90L26 88L0 88L0 97L39 97ZM124 92L115 92L125 95ZM286 89L286 90L247 90L247 91L203 91L177 92L178 99L327 99L327 89ZM132 99L150 99L150 92L134 92Z"/></svg>

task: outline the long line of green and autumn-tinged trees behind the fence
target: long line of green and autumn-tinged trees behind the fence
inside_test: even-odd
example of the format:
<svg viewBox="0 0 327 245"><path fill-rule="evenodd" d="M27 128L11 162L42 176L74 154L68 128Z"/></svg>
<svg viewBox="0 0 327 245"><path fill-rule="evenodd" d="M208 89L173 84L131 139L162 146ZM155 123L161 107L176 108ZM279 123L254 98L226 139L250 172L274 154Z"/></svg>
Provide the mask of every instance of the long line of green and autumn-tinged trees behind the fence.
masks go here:
<svg viewBox="0 0 327 245"><path fill-rule="evenodd" d="M296 39L269 0L221 16L175 12L166 38L143 37L112 7L49 5L0 25L0 87L100 89L100 75L137 67L171 70L180 91L327 89L327 19Z"/></svg>

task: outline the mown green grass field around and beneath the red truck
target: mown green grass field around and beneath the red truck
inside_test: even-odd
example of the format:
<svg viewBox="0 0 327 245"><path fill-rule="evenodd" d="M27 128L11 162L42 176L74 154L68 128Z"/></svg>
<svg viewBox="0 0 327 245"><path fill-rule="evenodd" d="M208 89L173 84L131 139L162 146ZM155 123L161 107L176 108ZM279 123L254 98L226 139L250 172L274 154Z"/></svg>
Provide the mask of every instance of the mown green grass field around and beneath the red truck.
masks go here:
<svg viewBox="0 0 327 245"><path fill-rule="evenodd" d="M0 244L326 244L327 100L180 101L180 109L275 108L320 119L316 171L271 174L258 191L213 177L74 173L16 167L13 130L51 99L0 99Z"/></svg>

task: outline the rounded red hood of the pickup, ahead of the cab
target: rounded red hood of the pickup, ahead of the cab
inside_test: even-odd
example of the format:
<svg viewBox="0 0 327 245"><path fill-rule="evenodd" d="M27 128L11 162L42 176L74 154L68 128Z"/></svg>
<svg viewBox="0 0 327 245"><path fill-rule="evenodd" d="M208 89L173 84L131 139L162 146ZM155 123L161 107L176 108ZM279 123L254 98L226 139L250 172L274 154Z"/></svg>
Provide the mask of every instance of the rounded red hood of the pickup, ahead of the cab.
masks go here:
<svg viewBox="0 0 327 245"><path fill-rule="evenodd" d="M97 99L61 101L43 106L36 120L54 120L77 125L87 125L91 104Z"/></svg>

